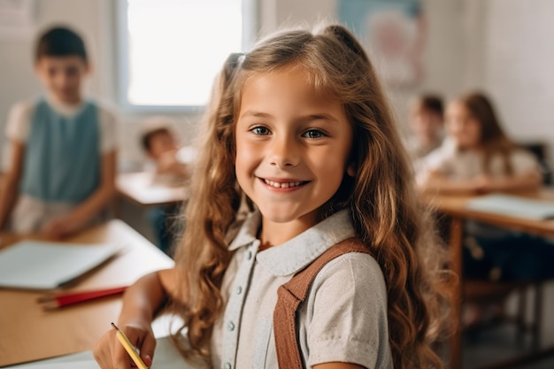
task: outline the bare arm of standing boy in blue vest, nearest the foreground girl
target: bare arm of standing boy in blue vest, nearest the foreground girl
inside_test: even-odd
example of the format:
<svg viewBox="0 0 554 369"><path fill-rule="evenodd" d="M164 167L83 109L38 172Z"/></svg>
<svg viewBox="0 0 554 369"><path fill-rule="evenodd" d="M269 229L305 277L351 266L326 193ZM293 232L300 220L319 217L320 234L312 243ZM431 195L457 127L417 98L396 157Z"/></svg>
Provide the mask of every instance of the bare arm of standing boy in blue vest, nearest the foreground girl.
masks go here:
<svg viewBox="0 0 554 369"><path fill-rule="evenodd" d="M51 237L72 234L85 226L89 219L102 211L115 194L116 151L105 153L101 159L100 186L69 214L48 222L42 232Z"/></svg>

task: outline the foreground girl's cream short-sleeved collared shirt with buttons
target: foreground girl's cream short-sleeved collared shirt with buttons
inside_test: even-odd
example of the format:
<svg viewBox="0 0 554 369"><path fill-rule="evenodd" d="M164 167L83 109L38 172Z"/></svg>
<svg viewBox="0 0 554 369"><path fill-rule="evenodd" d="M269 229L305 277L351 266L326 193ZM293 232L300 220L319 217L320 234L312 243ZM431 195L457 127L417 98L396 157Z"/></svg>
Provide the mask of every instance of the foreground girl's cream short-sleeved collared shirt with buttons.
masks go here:
<svg viewBox="0 0 554 369"><path fill-rule="evenodd" d="M273 309L277 288L336 243L354 236L348 211L258 252L261 216L250 213L231 242L225 274L226 309L212 334L214 368L277 368ZM392 368L387 291L381 268L352 252L324 266L297 311L300 351L307 367L332 361Z"/></svg>

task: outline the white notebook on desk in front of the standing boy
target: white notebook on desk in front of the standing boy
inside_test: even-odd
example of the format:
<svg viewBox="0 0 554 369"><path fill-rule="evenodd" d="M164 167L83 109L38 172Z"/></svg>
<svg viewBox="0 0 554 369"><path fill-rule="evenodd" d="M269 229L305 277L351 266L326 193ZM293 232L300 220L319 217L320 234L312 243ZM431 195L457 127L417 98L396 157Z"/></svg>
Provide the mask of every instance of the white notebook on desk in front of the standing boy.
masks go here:
<svg viewBox="0 0 554 369"><path fill-rule="evenodd" d="M0 250L0 288L53 289L112 257L114 244L21 241Z"/></svg>

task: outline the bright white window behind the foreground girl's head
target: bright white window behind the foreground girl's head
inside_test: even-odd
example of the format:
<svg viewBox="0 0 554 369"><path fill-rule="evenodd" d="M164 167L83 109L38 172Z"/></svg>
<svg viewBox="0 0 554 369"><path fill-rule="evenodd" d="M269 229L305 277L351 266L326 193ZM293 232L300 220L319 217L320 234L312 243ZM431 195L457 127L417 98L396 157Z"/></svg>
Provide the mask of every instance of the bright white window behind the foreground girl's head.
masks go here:
<svg viewBox="0 0 554 369"><path fill-rule="evenodd" d="M119 96L129 109L207 103L231 52L255 34L255 0L119 0Z"/></svg>

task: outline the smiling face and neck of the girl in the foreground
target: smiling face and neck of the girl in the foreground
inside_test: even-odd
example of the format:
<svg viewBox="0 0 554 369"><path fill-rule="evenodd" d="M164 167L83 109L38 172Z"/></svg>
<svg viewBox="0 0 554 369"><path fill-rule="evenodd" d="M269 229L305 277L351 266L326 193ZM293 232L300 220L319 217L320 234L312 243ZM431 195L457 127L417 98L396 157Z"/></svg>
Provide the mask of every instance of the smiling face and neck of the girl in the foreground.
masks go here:
<svg viewBox="0 0 554 369"><path fill-rule="evenodd" d="M315 225L350 158L342 104L319 94L300 67L258 74L242 88L235 129L236 177L263 215L263 232L281 230L272 243Z"/></svg>

